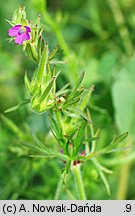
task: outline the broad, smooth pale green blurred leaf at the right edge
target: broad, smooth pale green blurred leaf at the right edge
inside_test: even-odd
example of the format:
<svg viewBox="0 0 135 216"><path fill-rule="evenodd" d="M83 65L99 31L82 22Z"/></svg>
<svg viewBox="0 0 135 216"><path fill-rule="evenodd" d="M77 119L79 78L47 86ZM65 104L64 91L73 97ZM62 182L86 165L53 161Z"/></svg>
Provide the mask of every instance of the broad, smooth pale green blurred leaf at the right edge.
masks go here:
<svg viewBox="0 0 135 216"><path fill-rule="evenodd" d="M115 121L120 132L133 133L135 122L135 59L130 58L112 86Z"/></svg>

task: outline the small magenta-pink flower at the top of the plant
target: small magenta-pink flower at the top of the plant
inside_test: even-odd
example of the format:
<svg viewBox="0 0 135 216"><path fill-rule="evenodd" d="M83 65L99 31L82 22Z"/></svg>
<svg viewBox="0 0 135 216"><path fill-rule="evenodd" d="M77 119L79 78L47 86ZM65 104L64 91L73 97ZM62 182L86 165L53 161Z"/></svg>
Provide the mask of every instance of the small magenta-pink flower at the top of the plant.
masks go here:
<svg viewBox="0 0 135 216"><path fill-rule="evenodd" d="M22 45L25 40L30 40L29 33L31 32L30 27L16 25L8 30L8 35L15 38L15 43Z"/></svg>

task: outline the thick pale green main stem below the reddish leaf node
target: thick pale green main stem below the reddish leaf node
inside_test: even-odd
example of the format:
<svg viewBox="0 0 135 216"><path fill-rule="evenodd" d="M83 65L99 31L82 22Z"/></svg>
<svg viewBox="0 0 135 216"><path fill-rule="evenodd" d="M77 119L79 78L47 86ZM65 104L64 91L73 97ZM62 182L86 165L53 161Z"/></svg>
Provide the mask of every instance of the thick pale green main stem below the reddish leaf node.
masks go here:
<svg viewBox="0 0 135 216"><path fill-rule="evenodd" d="M77 164L76 166L73 166L73 173L75 177L75 182L78 188L78 192L80 195L81 200L86 200L86 195L84 191L84 186L83 186L83 181L82 181L82 176L80 172L80 164Z"/></svg>

